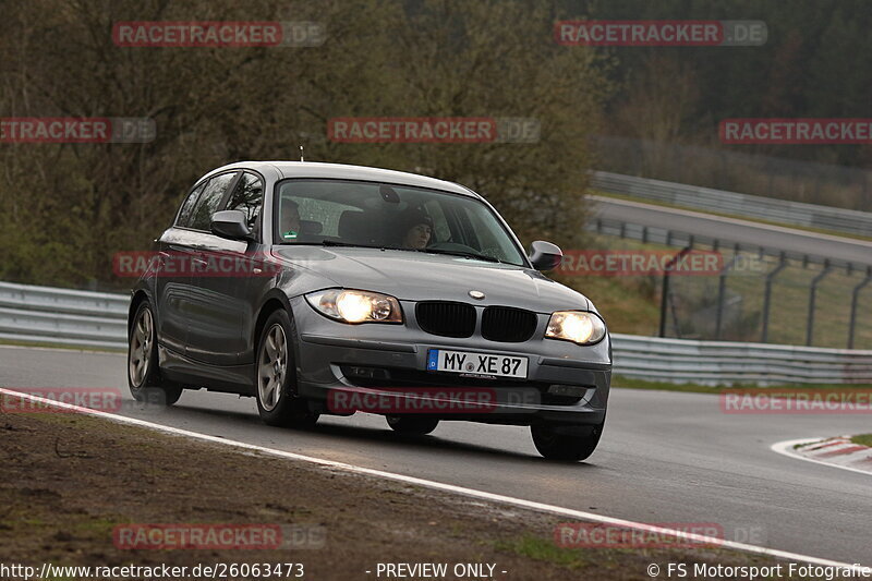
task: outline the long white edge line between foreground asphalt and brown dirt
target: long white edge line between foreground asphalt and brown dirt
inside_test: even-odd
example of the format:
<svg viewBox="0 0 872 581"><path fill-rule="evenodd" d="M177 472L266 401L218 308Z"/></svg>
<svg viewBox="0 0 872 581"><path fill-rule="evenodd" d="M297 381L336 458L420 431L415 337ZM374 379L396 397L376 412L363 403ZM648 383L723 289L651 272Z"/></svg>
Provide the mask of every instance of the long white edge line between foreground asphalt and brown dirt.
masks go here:
<svg viewBox="0 0 872 581"><path fill-rule="evenodd" d="M592 522L602 522L605 524L611 524L615 526L621 526L625 529L633 529L639 531L646 531L656 534L663 534L673 536L680 540L687 541L694 541L698 543L715 545L718 547L724 548L731 548L736 550L742 550L746 553L754 553L756 555L765 555L768 557L774 557L778 559L785 559L788 561L799 561L799 562L808 562L812 565L821 565L825 567L839 567L850 569L858 576L868 574L869 567L864 567L860 564L848 564L848 562L840 562L834 561L829 559L822 559L819 557L811 557L808 555L800 555L798 553L789 553L787 550L778 550L775 548L767 548L767 547L760 547L756 545L748 545L746 543L736 543L734 541L726 541L723 538L716 538L712 536L688 533L685 531L676 530L676 529L666 529L663 526L654 526L651 524L645 524L643 522L634 522L623 519L616 519L611 517L605 517L603 515L594 515L592 512L584 512L583 510L574 510L571 508L564 508L558 507L555 505L546 505L544 503L536 503L533 500L524 500L523 498L514 498L511 496L504 496L500 494L488 493L484 491L476 491L474 488L467 488L464 486L457 486L453 484L446 484L444 482L436 482L429 481L424 479L419 479L415 476L407 476L404 474L396 474L393 472L385 472L383 470L374 470L371 468L363 468L363 467L355 467L353 464L347 464L344 462L336 462L334 460L325 460L323 458L314 458L312 456L304 456L294 452L288 452L284 450L276 450L272 448L266 448L264 446L256 446L253 444L245 444L244 441L235 441L232 439L225 439L217 436L209 436L208 434L198 434L196 432L189 432L187 429L180 429L178 427L171 427L160 424L153 424L152 422L146 422L144 420L137 420L135 417L128 417L124 415L116 415L112 413L99 411L99 410L92 410L88 408L81 408L78 406L72 406L70 403L63 403L60 401L55 401L46 398L40 398L37 396L32 396L31 394L25 394L22 391L14 391L11 389L5 389L0 387L0 394L5 394L7 396L11 397L20 397L25 398L34 402L38 402L45 406L55 406L57 408L68 409L70 411L75 411L78 413L84 413L88 415L96 415L99 417L105 417L112 422L118 422L121 424L130 424L130 425L137 425L142 427L147 427L150 429L155 429L158 432L166 432L168 434L174 434L177 436L185 436L193 439L199 439L204 441L210 441L213 444L221 444L223 446L231 446L234 448L241 448L246 450L255 450L264 453L268 453L271 456L277 456L279 458L287 458L290 460L298 460L302 462L310 462L313 464L318 464L322 467L327 467L336 470L341 470L344 472L350 472L353 474L363 474L366 476L374 476L378 479L391 480L396 482L402 482L405 484L413 484L416 486L423 486L426 488L433 488L436 491L444 491L455 494L460 494L463 496L469 496L472 498L480 498L483 500L489 500L492 503L500 503L504 505L511 505L520 508L526 508L531 510L537 510L540 512L548 512L552 515L559 515L561 517L571 517L574 519L592 521Z"/></svg>

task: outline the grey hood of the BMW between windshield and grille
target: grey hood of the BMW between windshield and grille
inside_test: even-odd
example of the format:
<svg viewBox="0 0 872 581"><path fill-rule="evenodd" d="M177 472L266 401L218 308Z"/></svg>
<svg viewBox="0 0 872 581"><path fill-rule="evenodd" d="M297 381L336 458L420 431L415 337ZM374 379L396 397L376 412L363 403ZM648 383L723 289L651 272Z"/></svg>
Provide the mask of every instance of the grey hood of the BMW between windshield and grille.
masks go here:
<svg viewBox="0 0 872 581"><path fill-rule="evenodd" d="M590 301L541 273L520 266L380 249L279 246L274 256L291 268L304 268L324 279L324 287L342 287L391 294L408 301L460 301L507 305L540 313L583 310ZM483 300L469 292L481 291Z"/></svg>

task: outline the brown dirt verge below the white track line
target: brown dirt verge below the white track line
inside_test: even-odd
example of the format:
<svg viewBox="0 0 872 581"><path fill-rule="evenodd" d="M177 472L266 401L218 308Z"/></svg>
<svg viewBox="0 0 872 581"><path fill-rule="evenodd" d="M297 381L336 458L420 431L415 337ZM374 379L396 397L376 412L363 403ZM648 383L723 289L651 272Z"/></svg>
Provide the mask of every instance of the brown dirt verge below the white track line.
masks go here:
<svg viewBox="0 0 872 581"><path fill-rule="evenodd" d="M0 412L0 443L7 566L293 562L315 580L565 581L651 579L652 562L775 562L719 548L561 548L554 530L567 519L73 413ZM120 540L132 537L118 528L130 532L131 523L255 524L283 533L279 548L126 548ZM378 569L399 562L447 564L448 573ZM484 577L456 577L458 564L493 565L493 577L487 567ZM265 569L223 572L216 577L279 578ZM299 572L283 568L280 578Z"/></svg>

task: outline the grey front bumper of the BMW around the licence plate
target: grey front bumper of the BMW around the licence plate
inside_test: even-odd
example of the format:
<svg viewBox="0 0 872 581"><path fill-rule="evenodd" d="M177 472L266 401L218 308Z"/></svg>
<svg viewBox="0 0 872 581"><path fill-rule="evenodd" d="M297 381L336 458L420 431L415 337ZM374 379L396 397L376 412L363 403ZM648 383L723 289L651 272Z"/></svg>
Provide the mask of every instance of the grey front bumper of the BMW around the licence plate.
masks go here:
<svg viewBox="0 0 872 581"><path fill-rule="evenodd" d="M518 425L595 426L605 420L611 376L608 337L590 347L543 339L547 316L540 315L541 328L522 343L485 340L477 331L470 338L452 339L426 334L409 318L402 325L347 325L316 313L302 298L293 299L291 306L296 325L299 395L323 413L353 413L334 406L341 399L337 394L365 394L395 402L386 408L378 403L360 408L374 413ZM414 303L402 302L402 306L405 313L414 311ZM526 356L528 378L426 372L429 349ZM446 404L446 399L459 391L484 395L487 404ZM420 401L422 397L432 400L429 406ZM396 406L397 400L402 402ZM376 398L368 396L367 401L376 402Z"/></svg>

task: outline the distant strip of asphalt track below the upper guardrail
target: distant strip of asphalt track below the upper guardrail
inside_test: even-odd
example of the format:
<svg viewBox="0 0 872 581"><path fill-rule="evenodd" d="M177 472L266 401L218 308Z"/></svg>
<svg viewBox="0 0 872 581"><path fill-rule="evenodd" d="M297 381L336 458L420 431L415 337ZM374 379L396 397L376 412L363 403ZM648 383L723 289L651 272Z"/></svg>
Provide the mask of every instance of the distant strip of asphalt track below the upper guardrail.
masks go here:
<svg viewBox="0 0 872 581"><path fill-rule="evenodd" d="M763 246L858 265L872 265L872 242L640 202L604 196L591 197L596 202L595 215L604 219L667 228L693 235L719 239L722 242L740 242L746 246Z"/></svg>

